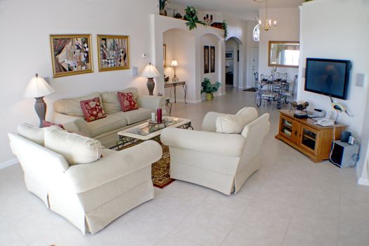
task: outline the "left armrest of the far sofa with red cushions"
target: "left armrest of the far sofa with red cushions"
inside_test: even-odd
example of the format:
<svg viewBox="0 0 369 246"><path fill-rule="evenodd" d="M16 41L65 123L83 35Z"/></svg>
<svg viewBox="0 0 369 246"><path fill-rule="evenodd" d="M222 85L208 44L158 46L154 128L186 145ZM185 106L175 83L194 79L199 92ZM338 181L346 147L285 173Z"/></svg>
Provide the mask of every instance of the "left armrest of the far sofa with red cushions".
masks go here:
<svg viewBox="0 0 369 246"><path fill-rule="evenodd" d="M87 127L87 122L82 118L53 112L53 122L63 124L63 127L67 131L72 131L84 136L91 136L89 127Z"/></svg>

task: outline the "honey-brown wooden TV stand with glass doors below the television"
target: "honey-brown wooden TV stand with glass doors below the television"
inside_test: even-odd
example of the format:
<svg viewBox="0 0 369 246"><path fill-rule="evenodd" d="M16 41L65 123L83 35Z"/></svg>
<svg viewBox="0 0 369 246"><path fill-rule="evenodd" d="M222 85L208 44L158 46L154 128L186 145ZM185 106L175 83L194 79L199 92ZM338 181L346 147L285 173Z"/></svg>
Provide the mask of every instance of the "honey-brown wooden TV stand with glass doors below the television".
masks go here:
<svg viewBox="0 0 369 246"><path fill-rule="evenodd" d="M321 127L314 119L297 119L294 110L279 110L280 120L276 138L291 145L313 162L328 160L333 141L333 127ZM335 125L335 139L346 129L344 124Z"/></svg>

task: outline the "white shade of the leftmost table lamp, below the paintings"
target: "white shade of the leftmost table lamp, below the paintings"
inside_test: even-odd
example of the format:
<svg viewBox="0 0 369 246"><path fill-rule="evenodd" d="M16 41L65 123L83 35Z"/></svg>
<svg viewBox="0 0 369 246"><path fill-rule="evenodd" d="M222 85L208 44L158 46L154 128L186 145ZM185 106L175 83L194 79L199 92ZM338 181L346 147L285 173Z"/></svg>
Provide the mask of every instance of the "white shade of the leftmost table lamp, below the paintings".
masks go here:
<svg viewBox="0 0 369 246"><path fill-rule="evenodd" d="M54 89L43 79L36 74L28 83L23 96L25 98L40 98L55 93Z"/></svg>

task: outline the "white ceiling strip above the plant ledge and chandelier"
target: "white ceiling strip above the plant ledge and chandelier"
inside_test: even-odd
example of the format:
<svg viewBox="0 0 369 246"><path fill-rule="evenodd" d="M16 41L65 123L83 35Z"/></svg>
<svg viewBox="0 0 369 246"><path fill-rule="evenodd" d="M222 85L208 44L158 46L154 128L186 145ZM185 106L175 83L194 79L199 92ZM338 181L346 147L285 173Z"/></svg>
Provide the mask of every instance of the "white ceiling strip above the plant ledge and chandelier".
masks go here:
<svg viewBox="0 0 369 246"><path fill-rule="evenodd" d="M194 6L200 11L217 11L236 15L245 20L256 20L259 8L265 8L265 1L256 3L254 0L171 0L174 4ZM268 0L268 8L297 7L304 0Z"/></svg>

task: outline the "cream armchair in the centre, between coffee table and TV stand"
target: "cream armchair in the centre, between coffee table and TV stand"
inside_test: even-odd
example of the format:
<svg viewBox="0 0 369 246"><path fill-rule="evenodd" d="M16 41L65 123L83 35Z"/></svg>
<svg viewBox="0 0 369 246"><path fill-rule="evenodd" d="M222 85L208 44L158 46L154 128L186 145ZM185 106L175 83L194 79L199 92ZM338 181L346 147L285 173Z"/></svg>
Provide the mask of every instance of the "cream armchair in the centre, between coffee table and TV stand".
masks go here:
<svg viewBox="0 0 369 246"><path fill-rule="evenodd" d="M226 195L237 193L245 181L259 169L259 152L268 133L269 114L257 117L249 108L251 122L241 134L216 132L216 119L224 114L208 112L202 131L167 128L161 141L169 146L172 179L197 183Z"/></svg>

